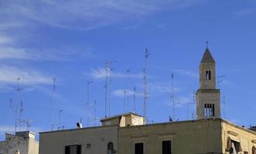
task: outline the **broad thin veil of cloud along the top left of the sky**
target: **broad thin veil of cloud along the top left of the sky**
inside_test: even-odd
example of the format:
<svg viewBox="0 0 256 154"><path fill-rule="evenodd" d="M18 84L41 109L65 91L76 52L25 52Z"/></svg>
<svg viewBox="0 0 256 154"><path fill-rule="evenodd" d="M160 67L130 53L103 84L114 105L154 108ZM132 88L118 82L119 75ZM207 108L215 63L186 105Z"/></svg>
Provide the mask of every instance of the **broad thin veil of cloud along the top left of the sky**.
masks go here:
<svg viewBox="0 0 256 154"><path fill-rule="evenodd" d="M2 23L8 23L9 18L12 18L15 23L21 22L21 25L24 21L29 24L36 21L62 28L88 30L111 25L125 18L139 18L165 9L187 7L201 1L203 0L13 0L2 2L0 15Z"/></svg>

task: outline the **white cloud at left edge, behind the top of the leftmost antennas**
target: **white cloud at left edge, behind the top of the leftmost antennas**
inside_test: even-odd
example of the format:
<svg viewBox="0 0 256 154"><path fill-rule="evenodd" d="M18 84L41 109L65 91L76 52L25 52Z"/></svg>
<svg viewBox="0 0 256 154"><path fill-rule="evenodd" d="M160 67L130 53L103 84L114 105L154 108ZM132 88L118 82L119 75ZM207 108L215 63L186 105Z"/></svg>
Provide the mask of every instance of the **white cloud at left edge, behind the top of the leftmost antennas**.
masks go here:
<svg viewBox="0 0 256 154"><path fill-rule="evenodd" d="M25 85L49 84L52 80L46 75L33 69L22 69L15 66L0 65L0 83L20 83Z"/></svg>

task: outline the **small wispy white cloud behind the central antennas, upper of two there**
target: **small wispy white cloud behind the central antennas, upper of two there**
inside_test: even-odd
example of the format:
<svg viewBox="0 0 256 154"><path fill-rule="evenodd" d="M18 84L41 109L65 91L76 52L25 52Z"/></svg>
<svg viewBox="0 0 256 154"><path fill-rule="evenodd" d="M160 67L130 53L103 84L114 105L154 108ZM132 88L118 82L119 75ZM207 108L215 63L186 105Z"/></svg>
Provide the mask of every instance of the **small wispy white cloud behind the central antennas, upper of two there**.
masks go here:
<svg viewBox="0 0 256 154"><path fill-rule="evenodd" d="M99 69L92 69L90 72L85 72L84 75L89 76L92 79L104 79L106 77L106 69L99 68ZM108 71L108 76L110 75ZM127 74L121 72L111 72L112 78L127 78ZM142 79L142 73L130 73L129 78L136 78Z"/></svg>

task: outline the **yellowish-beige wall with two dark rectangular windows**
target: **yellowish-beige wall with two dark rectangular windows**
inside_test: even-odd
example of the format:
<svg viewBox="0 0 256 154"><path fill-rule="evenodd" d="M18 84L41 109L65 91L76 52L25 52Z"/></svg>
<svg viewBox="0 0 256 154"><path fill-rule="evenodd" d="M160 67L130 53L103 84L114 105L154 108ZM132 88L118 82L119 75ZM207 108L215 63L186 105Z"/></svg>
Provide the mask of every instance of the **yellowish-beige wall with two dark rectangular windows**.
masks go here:
<svg viewBox="0 0 256 154"><path fill-rule="evenodd" d="M133 154L136 142L144 142L146 154L160 154L164 140L172 140L173 154L222 152L220 126L220 119L207 119L119 128L118 154Z"/></svg>

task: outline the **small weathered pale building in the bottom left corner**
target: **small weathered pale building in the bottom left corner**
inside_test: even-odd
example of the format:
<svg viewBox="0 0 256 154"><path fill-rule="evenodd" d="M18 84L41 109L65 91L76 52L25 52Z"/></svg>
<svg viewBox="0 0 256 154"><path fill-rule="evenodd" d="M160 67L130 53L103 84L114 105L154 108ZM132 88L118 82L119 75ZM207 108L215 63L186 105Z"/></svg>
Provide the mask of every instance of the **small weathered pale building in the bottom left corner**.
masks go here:
<svg viewBox="0 0 256 154"><path fill-rule="evenodd" d="M5 141L0 142L0 154L38 154L39 142L33 132L5 134Z"/></svg>

